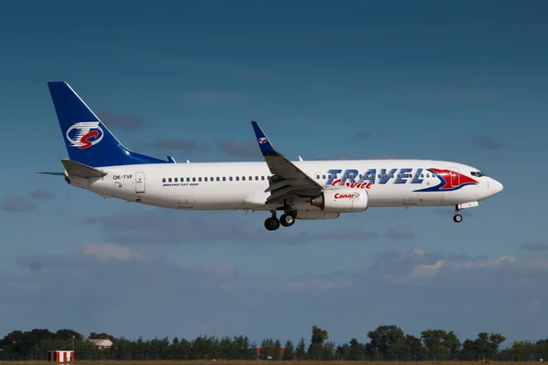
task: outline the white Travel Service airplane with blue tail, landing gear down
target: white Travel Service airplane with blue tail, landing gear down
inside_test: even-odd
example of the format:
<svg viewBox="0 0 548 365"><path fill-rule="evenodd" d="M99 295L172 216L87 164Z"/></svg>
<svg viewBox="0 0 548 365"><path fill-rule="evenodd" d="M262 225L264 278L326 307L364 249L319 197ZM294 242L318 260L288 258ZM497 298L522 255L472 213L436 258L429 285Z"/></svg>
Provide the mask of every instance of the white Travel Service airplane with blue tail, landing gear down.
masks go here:
<svg viewBox="0 0 548 365"><path fill-rule="evenodd" d="M458 162L290 161L251 121L261 162L160 160L125 148L67 82L48 82L68 159L65 181L103 198L163 208L269 212L275 231L296 220L326 220L375 207L454 206L460 211L501 193L500 182ZM279 218L278 212L281 213Z"/></svg>

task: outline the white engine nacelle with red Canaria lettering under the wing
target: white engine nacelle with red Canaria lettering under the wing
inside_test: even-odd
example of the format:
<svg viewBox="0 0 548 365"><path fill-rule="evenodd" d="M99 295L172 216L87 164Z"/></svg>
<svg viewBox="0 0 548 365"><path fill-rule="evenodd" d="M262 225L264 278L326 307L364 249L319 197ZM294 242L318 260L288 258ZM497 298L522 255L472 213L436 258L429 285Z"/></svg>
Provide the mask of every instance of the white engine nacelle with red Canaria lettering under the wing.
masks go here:
<svg viewBox="0 0 548 365"><path fill-rule="evenodd" d="M311 201L312 206L329 213L364 212L368 203L369 195L364 189L352 188L330 189Z"/></svg>

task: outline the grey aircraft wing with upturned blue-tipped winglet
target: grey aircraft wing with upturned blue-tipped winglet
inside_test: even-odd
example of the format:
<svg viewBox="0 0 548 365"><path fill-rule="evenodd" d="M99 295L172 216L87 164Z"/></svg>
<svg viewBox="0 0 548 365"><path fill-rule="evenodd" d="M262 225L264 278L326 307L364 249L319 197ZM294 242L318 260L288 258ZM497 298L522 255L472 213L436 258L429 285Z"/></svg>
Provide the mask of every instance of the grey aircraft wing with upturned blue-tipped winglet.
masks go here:
<svg viewBox="0 0 548 365"><path fill-rule="evenodd" d="M273 174L269 181L269 188L265 190L265 193L270 192L267 203L274 200L283 202L283 199L292 195L318 196L323 191L323 186L316 183L306 172L302 172L279 151L276 151L256 121L252 120L251 124L255 130L258 147Z"/></svg>

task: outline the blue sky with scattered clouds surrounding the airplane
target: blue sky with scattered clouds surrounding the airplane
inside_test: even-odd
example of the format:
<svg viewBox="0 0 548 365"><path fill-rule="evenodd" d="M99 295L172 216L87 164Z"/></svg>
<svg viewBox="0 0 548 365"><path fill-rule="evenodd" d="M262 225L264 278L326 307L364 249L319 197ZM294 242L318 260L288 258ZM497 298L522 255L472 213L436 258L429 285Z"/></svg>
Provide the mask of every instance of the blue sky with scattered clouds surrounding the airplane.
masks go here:
<svg viewBox="0 0 548 365"><path fill-rule="evenodd" d="M3 3L0 336L297 340L318 324L343 342L396 324L542 338L547 6ZM103 200L34 173L67 156L51 80L160 158L260 161L258 120L292 159L463 162L505 189L462 224L450 208L375 209L275 234L265 214Z"/></svg>

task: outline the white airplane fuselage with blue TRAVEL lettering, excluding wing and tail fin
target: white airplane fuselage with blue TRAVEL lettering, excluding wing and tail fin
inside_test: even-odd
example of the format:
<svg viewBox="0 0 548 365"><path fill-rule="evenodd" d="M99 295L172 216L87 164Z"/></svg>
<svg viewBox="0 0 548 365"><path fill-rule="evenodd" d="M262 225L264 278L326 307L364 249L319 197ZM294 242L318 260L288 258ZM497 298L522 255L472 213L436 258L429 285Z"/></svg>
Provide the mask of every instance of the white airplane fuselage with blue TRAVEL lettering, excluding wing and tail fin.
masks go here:
<svg viewBox="0 0 548 365"><path fill-rule="evenodd" d="M502 190L501 183L456 162L292 163L326 189L335 188L334 182L366 191L370 207L457 205L479 202ZM279 207L265 203L271 176L266 162L153 163L98 169L108 174L90 179L69 176L70 183L101 196L174 209L272 211ZM310 199L303 199L296 207L314 209Z"/></svg>

